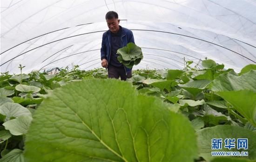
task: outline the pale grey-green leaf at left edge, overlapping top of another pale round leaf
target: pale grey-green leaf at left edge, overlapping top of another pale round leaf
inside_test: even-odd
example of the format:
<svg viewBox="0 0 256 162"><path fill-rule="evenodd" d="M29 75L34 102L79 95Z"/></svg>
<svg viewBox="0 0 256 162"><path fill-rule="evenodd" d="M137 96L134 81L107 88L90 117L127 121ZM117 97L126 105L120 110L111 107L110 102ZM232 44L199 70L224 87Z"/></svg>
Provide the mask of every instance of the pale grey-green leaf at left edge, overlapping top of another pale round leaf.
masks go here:
<svg viewBox="0 0 256 162"><path fill-rule="evenodd" d="M20 116L31 116L29 110L20 104L7 102L0 106L0 114L5 115L5 121L10 120L11 117L18 118Z"/></svg>

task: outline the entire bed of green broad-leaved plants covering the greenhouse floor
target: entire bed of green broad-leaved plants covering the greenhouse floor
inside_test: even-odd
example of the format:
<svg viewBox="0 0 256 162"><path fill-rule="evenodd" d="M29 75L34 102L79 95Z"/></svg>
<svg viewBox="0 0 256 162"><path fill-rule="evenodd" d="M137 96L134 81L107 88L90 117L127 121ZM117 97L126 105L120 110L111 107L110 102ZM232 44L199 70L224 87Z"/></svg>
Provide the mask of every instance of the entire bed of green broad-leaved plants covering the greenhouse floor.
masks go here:
<svg viewBox="0 0 256 162"><path fill-rule="evenodd" d="M78 66L1 73L0 162L255 161L255 65L193 63L133 70L127 82ZM211 138L229 137L248 138L249 156L213 158Z"/></svg>

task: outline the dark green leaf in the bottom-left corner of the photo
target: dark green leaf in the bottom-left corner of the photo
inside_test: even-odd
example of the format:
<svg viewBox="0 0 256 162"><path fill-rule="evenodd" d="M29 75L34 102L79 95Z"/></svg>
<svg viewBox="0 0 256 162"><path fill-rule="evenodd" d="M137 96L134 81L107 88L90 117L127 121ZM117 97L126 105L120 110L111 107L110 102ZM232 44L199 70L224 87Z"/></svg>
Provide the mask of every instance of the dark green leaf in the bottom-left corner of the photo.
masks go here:
<svg viewBox="0 0 256 162"><path fill-rule="evenodd" d="M22 150L14 149L0 159L0 162L25 162ZM39 162L39 159L36 161Z"/></svg>

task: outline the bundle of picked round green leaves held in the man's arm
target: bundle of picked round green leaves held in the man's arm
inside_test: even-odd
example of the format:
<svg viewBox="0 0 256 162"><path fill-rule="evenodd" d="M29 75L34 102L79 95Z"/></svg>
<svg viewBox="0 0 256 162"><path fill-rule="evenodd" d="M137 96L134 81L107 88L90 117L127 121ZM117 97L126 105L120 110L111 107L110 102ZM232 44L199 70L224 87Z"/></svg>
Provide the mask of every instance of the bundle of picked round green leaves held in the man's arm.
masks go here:
<svg viewBox="0 0 256 162"><path fill-rule="evenodd" d="M141 48L134 43L128 43L127 46L117 50L117 59L127 68L138 65L143 58Z"/></svg>

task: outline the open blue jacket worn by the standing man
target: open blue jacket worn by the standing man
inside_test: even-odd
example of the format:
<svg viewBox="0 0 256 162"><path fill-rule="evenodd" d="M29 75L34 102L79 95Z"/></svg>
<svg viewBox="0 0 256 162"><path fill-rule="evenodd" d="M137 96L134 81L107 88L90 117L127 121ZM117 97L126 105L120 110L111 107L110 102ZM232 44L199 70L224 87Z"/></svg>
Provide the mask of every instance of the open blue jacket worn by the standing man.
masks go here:
<svg viewBox="0 0 256 162"><path fill-rule="evenodd" d="M121 41L122 41L122 47L126 46L128 43L134 42L133 32L130 31L127 28L122 27L122 33L121 33ZM103 58L107 58L108 64L110 61L110 55L111 55L111 33L110 31L106 31L103 33L102 36L102 43L101 43L101 60ZM132 69L129 69L125 67L126 73L131 71Z"/></svg>

